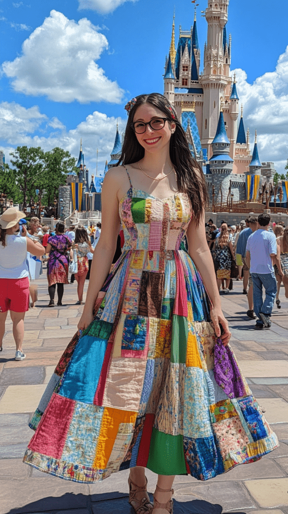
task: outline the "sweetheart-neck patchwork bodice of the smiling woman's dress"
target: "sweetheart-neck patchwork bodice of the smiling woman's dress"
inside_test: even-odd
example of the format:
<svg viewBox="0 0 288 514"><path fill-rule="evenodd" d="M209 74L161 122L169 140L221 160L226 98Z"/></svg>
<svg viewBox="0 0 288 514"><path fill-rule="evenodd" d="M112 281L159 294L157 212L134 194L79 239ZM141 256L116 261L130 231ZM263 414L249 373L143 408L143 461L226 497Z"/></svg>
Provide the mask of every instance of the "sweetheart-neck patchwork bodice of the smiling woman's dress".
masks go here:
<svg viewBox="0 0 288 514"><path fill-rule="evenodd" d="M160 199L133 188L130 181L130 189L119 204L119 215L125 236L123 251L166 251L179 249L192 209L186 193Z"/></svg>

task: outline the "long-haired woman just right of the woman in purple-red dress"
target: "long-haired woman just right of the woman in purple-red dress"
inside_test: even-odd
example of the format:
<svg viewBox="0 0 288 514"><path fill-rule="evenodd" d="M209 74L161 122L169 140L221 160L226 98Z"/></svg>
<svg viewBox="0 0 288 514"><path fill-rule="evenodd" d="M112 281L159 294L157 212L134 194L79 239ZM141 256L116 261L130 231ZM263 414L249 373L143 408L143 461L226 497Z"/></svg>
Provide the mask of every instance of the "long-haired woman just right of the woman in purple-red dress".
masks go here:
<svg viewBox="0 0 288 514"><path fill-rule="evenodd" d="M75 232L75 240L73 244L73 249L76 250L77 254L77 268L78 271L75 273L75 279L77 281L77 293L78 293L78 302L76 305L81 305L83 302L83 290L86 275L89 270L87 253L94 253L94 248L92 247L89 239L87 230L82 225L79 225L76 228Z"/></svg>

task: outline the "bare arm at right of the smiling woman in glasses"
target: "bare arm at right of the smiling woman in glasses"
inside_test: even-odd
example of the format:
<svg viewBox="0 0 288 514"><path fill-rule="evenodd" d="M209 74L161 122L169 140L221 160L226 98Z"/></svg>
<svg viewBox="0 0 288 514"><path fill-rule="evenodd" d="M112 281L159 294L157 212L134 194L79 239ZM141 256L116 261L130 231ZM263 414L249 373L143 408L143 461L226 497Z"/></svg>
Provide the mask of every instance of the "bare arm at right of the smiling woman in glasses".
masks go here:
<svg viewBox="0 0 288 514"><path fill-rule="evenodd" d="M212 302L210 317L215 327L215 334L217 337L221 336L221 329L219 326L219 323L221 323L224 330L221 338L223 344L226 346L226 344L229 342L229 339L231 338L231 332L229 331L228 323L222 313L221 300L216 282L213 259L205 237L204 219L205 217L203 211L202 218L198 226L193 219L189 223L186 234L188 241L188 253L202 277L204 286L210 301Z"/></svg>

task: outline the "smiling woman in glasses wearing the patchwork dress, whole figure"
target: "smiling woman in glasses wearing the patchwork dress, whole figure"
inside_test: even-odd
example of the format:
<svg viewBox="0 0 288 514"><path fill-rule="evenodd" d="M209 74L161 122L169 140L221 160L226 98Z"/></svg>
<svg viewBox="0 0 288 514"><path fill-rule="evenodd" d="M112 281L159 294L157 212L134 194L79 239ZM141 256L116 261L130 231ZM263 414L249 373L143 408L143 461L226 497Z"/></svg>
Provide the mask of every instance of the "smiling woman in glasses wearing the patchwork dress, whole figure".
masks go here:
<svg viewBox="0 0 288 514"><path fill-rule="evenodd" d="M152 93L133 98L126 109L123 166L110 169L103 182L102 231L78 324L81 337L71 341L51 378L50 391L57 387L57 393L45 408L47 389L31 420L36 429L45 409L24 460L83 482L130 468L135 512L170 514L176 474L212 478L272 450L277 438L266 431L240 374L241 391L229 394L239 413L239 402L249 403L252 428L243 406L241 417L235 411L237 421L224 407L234 409L234 403L217 380L226 388L225 369L232 364L227 356L220 379L222 359L215 359L213 371L213 349L226 354L231 334L206 243L204 176L174 107ZM120 221L125 245L105 281ZM179 250L185 234L188 252ZM233 366L238 370L234 360ZM255 435L260 424L261 443ZM154 505L145 467L158 473Z"/></svg>

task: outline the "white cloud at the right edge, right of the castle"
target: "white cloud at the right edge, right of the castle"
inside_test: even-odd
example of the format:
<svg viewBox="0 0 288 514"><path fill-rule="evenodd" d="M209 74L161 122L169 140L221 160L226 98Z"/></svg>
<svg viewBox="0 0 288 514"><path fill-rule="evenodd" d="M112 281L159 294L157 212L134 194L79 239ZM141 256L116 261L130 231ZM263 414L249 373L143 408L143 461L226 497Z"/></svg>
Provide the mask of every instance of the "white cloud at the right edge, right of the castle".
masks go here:
<svg viewBox="0 0 288 514"><path fill-rule="evenodd" d="M279 57L275 71L258 77L253 84L247 82L244 70L235 71L252 149L257 129L260 160L275 162L278 173L283 173L288 158L288 46Z"/></svg>

